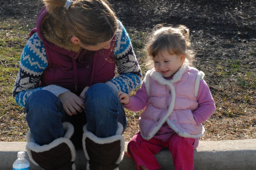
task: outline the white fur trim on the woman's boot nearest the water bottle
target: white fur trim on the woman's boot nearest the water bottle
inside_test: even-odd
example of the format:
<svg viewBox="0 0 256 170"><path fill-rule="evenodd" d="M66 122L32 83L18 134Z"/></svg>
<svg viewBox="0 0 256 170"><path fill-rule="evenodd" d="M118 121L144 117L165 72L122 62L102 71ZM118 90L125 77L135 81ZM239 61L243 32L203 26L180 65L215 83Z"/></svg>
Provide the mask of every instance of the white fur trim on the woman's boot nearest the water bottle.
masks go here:
<svg viewBox="0 0 256 170"><path fill-rule="evenodd" d="M38 163L36 163L36 161L34 161L32 158L31 150L34 152L37 152L37 153L45 152L45 151L48 151L48 150L58 146L61 143L66 143L69 146L69 148L71 150L71 161L72 162L75 161L76 149L75 149L73 143L71 142L71 140L69 140L74 133L74 127L71 123L64 122L63 128L64 128L64 130L66 130L66 134L64 137L55 139L50 144L43 145L43 146L36 144L36 142L33 140L30 130L28 131L28 133L26 134L26 140L27 140L26 150L28 152L28 156L29 156L29 159L31 160L31 162L33 162L35 165L38 165ZM73 170L76 169L76 166L74 163L72 165L72 169Z"/></svg>

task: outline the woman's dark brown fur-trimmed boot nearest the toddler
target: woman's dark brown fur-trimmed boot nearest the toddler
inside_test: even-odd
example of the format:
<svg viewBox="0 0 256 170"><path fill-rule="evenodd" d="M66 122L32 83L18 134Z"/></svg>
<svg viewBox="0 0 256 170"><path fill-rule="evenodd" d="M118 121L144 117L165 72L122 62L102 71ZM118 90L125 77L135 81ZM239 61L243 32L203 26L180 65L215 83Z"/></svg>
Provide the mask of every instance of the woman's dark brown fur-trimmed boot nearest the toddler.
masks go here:
<svg viewBox="0 0 256 170"><path fill-rule="evenodd" d="M118 170L124 155L124 138L121 134L98 138L83 127L83 150L88 159L87 170Z"/></svg>

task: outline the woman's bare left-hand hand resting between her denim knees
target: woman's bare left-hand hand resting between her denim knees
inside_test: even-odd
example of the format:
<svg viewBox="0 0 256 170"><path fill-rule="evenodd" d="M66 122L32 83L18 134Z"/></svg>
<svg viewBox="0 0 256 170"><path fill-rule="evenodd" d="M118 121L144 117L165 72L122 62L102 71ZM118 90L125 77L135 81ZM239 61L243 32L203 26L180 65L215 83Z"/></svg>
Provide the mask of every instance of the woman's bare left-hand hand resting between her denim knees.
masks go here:
<svg viewBox="0 0 256 170"><path fill-rule="evenodd" d="M65 112L72 116L76 115L77 112L82 113L84 109L84 100L76 96L72 92L65 92L59 94L59 99L62 102Z"/></svg>

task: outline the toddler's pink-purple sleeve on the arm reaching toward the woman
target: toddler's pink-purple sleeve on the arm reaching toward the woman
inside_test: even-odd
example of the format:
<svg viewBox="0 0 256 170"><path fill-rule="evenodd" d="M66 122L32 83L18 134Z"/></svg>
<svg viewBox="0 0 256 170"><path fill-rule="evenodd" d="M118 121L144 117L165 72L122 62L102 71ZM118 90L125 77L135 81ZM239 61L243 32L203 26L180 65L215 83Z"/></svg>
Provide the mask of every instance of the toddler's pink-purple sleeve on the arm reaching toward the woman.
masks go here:
<svg viewBox="0 0 256 170"><path fill-rule="evenodd" d="M130 97L130 102L123 105L124 108L137 112L145 108L147 105L148 95L146 91L145 84L142 83L141 87L137 90L135 96Z"/></svg>

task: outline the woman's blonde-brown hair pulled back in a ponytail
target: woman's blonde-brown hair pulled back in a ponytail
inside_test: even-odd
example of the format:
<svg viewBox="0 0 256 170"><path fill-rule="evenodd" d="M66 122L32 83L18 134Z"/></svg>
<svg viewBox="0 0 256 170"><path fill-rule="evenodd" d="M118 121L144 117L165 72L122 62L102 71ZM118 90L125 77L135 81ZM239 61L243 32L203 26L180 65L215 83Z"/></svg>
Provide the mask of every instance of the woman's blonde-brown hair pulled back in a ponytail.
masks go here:
<svg viewBox="0 0 256 170"><path fill-rule="evenodd" d="M69 36L86 45L108 41L117 30L114 10L107 0L74 0L67 9L66 0L43 0L49 14L66 23Z"/></svg>

